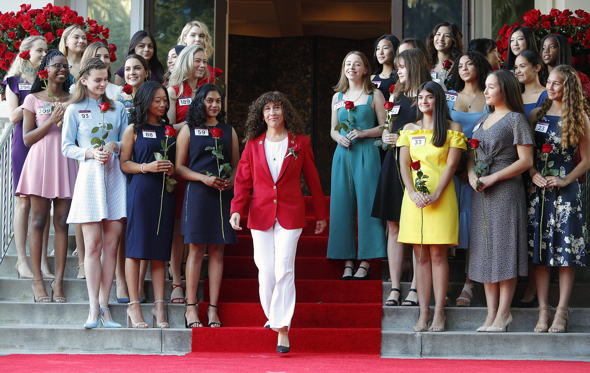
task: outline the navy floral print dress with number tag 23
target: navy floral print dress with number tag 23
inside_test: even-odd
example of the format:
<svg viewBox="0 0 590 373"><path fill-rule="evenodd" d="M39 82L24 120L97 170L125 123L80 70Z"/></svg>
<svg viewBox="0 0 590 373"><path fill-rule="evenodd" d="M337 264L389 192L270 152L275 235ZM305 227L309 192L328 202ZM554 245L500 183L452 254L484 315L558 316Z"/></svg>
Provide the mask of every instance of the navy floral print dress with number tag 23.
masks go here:
<svg viewBox="0 0 590 373"><path fill-rule="evenodd" d="M553 161L553 166L548 169L556 169L558 178L564 178L575 168L573 160L577 149L576 146L562 148L561 123L561 117L546 115L535 124L535 166L541 171L545 167L547 155L548 162ZM550 153L541 151L544 143L553 146ZM529 182L529 256L533 263L543 266L585 267L588 230L578 180L563 188L545 188L544 205L542 193L543 188Z"/></svg>

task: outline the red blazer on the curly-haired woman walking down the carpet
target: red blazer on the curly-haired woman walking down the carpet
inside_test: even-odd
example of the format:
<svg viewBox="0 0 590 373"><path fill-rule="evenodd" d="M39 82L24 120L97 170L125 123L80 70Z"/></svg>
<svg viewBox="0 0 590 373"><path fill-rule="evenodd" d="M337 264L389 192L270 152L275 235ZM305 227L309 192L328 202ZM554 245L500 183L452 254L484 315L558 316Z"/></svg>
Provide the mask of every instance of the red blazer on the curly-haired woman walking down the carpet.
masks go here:
<svg viewBox="0 0 590 373"><path fill-rule="evenodd" d="M294 138L289 133L289 148L299 145L300 150L297 153L297 159L293 155L284 159L276 183L270 174L264 153L265 138L266 131L246 143L235 174L231 212L238 212L240 216L244 215L244 207L252 190L248 228L266 231L273 226L275 219L281 227L286 229L305 227L305 204L301 194L301 171L303 171L307 187L312 192L316 220L326 219L328 217L326 202L309 138L304 135L297 135ZM285 155L287 154L289 150Z"/></svg>

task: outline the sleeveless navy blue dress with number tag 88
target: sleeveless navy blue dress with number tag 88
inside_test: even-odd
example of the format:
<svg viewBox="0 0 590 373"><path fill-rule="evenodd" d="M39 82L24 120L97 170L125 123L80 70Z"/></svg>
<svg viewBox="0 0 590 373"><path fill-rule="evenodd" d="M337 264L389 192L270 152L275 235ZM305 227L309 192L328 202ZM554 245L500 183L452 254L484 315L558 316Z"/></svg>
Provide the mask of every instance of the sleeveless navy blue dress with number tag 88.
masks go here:
<svg viewBox="0 0 590 373"><path fill-rule="evenodd" d="M146 125L140 129L133 145L135 162L150 163L156 160L153 153L158 152L163 155L162 140L166 142L165 126ZM168 145L174 142L176 142L175 137L168 139ZM168 150L168 159L174 162L175 155L176 144ZM160 199L163 175L163 172L133 174L127 188L127 232L125 234L125 257L127 258L170 260L174 232L174 194L164 188L163 199ZM160 201L162 218L159 219ZM158 219L160 220L159 233Z"/></svg>

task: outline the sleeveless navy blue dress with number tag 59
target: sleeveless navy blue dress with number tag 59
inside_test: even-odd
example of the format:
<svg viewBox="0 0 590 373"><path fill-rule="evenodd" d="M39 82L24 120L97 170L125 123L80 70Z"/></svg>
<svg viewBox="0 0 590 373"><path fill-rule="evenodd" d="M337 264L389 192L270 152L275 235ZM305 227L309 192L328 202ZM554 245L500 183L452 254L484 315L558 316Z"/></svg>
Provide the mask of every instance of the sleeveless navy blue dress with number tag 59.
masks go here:
<svg viewBox="0 0 590 373"><path fill-rule="evenodd" d="M222 163L231 163L232 127L220 122L215 126L223 131L217 145L223 145L221 152L224 158ZM191 129L191 143L188 150L188 168L195 172L209 171L218 175L217 159L211 153L208 146L215 146L215 139L209 132L214 127L203 126ZM198 133L206 133L196 135ZM235 172L236 170L232 170ZM223 175L222 175L223 176ZM229 174L228 174L229 178ZM221 194L221 206L219 195ZM201 181L187 181L184 202L182 204L181 234L185 244L222 245L235 244L238 238L230 224L231 200L234 198L234 189L219 192ZM223 217L221 216L223 211ZM223 224L223 231L221 229ZM224 240L225 234L225 240Z"/></svg>

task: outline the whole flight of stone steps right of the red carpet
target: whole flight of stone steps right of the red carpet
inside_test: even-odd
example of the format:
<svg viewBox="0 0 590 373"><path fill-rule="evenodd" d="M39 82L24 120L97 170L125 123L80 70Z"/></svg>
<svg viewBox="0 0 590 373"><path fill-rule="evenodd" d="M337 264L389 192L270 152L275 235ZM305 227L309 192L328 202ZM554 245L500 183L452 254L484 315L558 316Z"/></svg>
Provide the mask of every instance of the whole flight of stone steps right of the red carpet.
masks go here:
<svg viewBox="0 0 590 373"><path fill-rule="evenodd" d="M457 250L459 253L460 250ZM450 284L448 296L451 306L445 307L446 332L414 332L418 307L383 306L381 355L383 357L422 358L486 358L486 359L560 359L590 361L590 270L578 269L573 285L570 306L569 333L535 333L539 311L537 308L511 309L514 321L506 333L478 333L476 328L486 318L486 296L483 285L474 287L471 307L456 307L455 299L463 289L465 261L449 261ZM389 269L383 261L383 302L391 292ZM519 279L514 303L526 289L526 279ZM402 278L402 300L407 295L411 278ZM550 284L549 304L556 306L559 284ZM430 302L434 312L434 296ZM555 310L551 311L552 315Z"/></svg>

